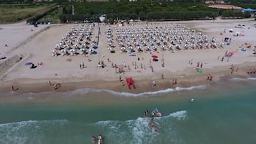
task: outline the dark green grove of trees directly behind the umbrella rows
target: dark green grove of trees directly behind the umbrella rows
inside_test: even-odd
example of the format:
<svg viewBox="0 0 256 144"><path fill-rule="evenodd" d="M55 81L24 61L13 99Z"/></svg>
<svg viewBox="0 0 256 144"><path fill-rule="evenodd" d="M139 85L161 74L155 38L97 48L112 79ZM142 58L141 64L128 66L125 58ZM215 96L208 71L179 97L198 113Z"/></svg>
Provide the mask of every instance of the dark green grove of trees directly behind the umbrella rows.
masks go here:
<svg viewBox="0 0 256 144"><path fill-rule="evenodd" d="M72 15L72 6L75 15ZM97 9L95 9L97 8ZM100 14L106 14L106 22L113 23L118 19L141 20L190 20L214 19L217 9L207 8L202 3L173 3L168 1L110 1L110 2L82 2L63 6L60 19L65 21L98 21Z"/></svg>

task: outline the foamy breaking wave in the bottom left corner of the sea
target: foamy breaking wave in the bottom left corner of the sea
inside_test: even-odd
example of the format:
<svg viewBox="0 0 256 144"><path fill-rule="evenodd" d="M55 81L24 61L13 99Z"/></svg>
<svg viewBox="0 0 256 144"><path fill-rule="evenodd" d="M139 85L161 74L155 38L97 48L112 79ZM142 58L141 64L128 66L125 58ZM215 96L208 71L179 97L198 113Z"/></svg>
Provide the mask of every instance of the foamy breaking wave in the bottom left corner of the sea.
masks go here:
<svg viewBox="0 0 256 144"><path fill-rule="evenodd" d="M42 140L42 129L65 125L68 120L28 120L0 124L0 143L25 144Z"/></svg>

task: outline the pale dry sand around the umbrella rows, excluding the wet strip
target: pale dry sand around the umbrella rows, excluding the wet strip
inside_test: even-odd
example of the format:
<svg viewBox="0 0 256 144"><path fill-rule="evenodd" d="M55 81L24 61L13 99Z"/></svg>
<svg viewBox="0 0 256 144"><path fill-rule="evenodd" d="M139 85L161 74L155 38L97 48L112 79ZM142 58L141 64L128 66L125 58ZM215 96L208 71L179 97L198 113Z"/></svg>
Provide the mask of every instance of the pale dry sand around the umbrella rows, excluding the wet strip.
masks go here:
<svg viewBox="0 0 256 144"><path fill-rule="evenodd" d="M161 77L161 74L170 79L171 77L195 75L194 67L196 62L203 62L203 67L212 69L212 71L218 71L217 66L227 66L228 69L230 64L256 62L256 57L252 54L253 48L247 49L246 52L242 52L239 48L241 44L245 45L245 42L250 42L253 46L256 45L256 28L252 27L256 22L252 19L170 21L170 23L185 24L187 27L191 27L191 29L202 32L202 34L207 34L209 38L216 38L218 42L222 42L224 37L232 37L232 41L230 45L225 45L224 49L195 49L181 50L174 53L170 51L155 53L160 59L165 59L165 67L161 67L160 61L152 62L154 72L151 72L149 67L141 69L141 63L143 63L143 66L150 64L151 54L149 53L138 53L136 57L120 54L119 51L111 54L107 49L108 44L105 39L104 26L101 27L100 46L96 49L98 54L90 55L89 58L92 61L88 62L88 57L82 55L52 57L51 50L57 42L67 34L71 27L77 27L77 24L39 25L37 28L24 24L24 22L19 24L2 24L0 25L0 28L2 28L0 29L0 57L7 57L9 59L14 55L21 54L23 59L13 64L8 70L0 73L1 84L11 85L12 82L17 80L24 83L47 82L49 80L58 82L118 80L119 74L115 73L115 68L111 67L111 63L107 61L108 58L111 62L118 65L122 65L123 62L126 65L130 65L131 70L125 69L125 74L121 74L121 77L131 76L134 80L156 80ZM244 24L245 28L235 28L238 24ZM46 29L47 27L49 29ZM31 29L34 31L31 31ZM226 29L226 33L220 35L224 29ZM233 29L234 32L228 32L229 29ZM245 34L245 36L234 37L233 34L235 32L240 32ZM96 34L98 34L97 28L93 31L93 39L95 40L97 40ZM8 47L5 47L4 44L8 44ZM229 58L228 62L227 58L224 59L224 62L221 62L220 59L226 51L234 52L235 49L238 49L238 51L235 52L233 57ZM138 57L143 57L143 60L138 61ZM1 59L0 64L7 59ZM189 64L190 59L193 59L193 65ZM98 60L103 60L107 67L98 68ZM29 66L25 65L26 62L33 62L34 64L43 62L44 65L30 69ZM84 62L86 68L80 69L80 62ZM137 62L139 68L134 69L132 62Z"/></svg>

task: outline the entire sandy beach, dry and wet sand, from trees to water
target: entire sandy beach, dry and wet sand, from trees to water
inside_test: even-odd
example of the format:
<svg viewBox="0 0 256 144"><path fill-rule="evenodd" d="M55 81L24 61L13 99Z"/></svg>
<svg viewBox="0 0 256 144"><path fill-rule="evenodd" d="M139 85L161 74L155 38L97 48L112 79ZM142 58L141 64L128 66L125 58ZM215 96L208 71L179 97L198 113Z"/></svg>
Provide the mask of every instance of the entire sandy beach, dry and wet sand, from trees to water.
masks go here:
<svg viewBox="0 0 256 144"><path fill-rule="evenodd" d="M141 93L148 91L165 90L175 87L190 87L207 85L209 82L224 77L255 77L248 75L249 69L256 68L256 57L253 50L256 45L256 28L253 19L235 19L214 21L169 21L169 22L139 22L126 27L155 27L159 24L181 24L195 30L196 34L207 35L223 47L188 49L184 50L159 50L154 52L134 52L136 56L120 51L117 36L113 33L115 53L111 53L108 44L107 29L121 29L122 26L105 25L93 26L85 24L85 29L90 29L91 36L88 41L89 49L93 42L98 42L97 54L59 54L52 56L52 49L65 37L70 29L79 28L80 24L52 24L52 25L27 25L0 24L0 89L11 91L11 85L17 92L46 92L52 91L49 81L60 83L57 91L93 88L107 89L118 92ZM99 29L100 27L100 29ZM98 35L99 34L99 35ZM224 42L224 38L229 40ZM251 46L251 47L249 47ZM242 51L245 48L245 51ZM231 57L224 57L225 53L232 52ZM152 55L158 56L158 62L153 62ZM224 59L222 60L222 57ZM104 68L98 62L103 61ZM31 62L36 67L31 69L27 63ZM134 64L136 62L136 64ZM164 62L164 67L163 67ZM197 63L202 64L197 67ZM84 67L81 68L80 64ZM192 63L192 64L191 64ZM125 72L118 73L116 64L123 67ZM233 72L230 69L234 65ZM153 69L151 68L153 67ZM200 72L198 71L199 69ZM163 77L162 77L163 75ZM212 81L207 76L212 75ZM125 77L133 77L136 89L128 89ZM121 80L120 80L121 78ZM173 80L177 84L173 85ZM156 87L152 87L153 80Z"/></svg>

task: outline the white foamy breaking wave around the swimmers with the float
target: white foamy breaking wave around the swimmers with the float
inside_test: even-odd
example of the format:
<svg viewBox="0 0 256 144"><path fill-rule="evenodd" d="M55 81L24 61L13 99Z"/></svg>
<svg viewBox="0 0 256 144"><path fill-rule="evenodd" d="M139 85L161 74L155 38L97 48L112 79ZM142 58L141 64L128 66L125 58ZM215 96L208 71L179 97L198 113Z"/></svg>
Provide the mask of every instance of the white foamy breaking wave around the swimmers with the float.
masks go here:
<svg viewBox="0 0 256 144"><path fill-rule="evenodd" d="M151 120L148 117L138 117L135 120L105 120L99 121L94 125L104 131L106 138L111 138L108 143L116 143L122 140L123 143L158 143L158 137L161 133L170 135L166 141L169 143L180 143L182 138L176 133L176 123L180 120L186 120L186 110L172 112L163 117L155 117L153 123L157 126L158 132L151 128ZM112 141L113 140L113 141Z"/></svg>

